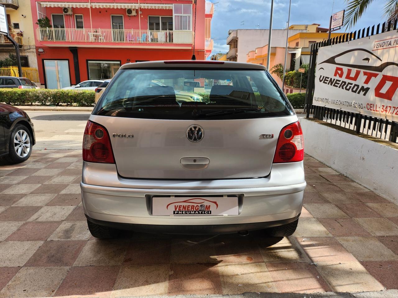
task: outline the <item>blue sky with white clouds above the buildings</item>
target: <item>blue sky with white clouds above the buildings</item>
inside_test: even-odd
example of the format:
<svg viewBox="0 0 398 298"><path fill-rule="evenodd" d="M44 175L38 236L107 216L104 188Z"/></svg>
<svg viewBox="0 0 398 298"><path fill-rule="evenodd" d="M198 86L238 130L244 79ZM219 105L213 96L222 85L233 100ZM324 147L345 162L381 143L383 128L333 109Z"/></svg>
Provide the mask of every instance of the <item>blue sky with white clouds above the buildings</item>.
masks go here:
<svg viewBox="0 0 398 298"><path fill-rule="evenodd" d="M229 29L269 29L271 0L207 1L217 3L211 21L211 38L215 40L212 54L228 51L226 37ZM374 1L353 30L382 22L383 2ZM345 6L345 0L292 0L290 25L317 23L329 27L332 11L338 12ZM286 28L289 0L274 0L273 11L273 29Z"/></svg>

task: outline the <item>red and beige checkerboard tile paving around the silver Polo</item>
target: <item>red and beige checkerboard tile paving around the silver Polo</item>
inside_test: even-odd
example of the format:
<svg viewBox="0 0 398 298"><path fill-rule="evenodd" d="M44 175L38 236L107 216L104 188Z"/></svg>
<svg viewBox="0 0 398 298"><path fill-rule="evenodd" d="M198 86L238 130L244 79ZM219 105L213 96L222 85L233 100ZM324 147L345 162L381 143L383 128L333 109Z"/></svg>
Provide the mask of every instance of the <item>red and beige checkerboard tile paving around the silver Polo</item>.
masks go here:
<svg viewBox="0 0 398 298"><path fill-rule="evenodd" d="M25 163L0 166L0 297L397 288L397 205L308 155L304 166L293 236L98 240L81 205L81 151L34 150Z"/></svg>

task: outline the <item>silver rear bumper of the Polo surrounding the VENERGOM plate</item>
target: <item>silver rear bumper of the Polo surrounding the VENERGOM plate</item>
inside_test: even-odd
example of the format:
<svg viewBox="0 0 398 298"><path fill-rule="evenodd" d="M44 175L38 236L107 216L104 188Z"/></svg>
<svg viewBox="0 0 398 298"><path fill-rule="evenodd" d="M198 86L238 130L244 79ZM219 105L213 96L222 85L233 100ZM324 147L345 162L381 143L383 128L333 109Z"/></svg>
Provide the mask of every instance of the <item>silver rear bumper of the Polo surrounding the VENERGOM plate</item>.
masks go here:
<svg viewBox="0 0 398 298"><path fill-rule="evenodd" d="M125 179L117 176L114 164L84 163L80 186L84 213L93 222L117 223L121 228L140 231L224 233L294 221L301 212L306 182L302 162L275 164L266 178L229 180ZM239 212L228 216L153 216L154 195L236 195Z"/></svg>

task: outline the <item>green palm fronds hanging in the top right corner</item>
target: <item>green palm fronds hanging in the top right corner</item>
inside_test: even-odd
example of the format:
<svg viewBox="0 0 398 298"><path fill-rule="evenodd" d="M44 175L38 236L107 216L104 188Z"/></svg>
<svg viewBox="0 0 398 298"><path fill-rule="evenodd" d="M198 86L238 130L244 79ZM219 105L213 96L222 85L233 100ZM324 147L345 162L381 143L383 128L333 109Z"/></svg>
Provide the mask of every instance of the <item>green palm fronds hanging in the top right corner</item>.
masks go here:
<svg viewBox="0 0 398 298"><path fill-rule="evenodd" d="M355 26L374 0L345 0L344 26L348 29ZM381 1L381 0L377 0ZM383 18L394 20L398 17L398 0L384 0Z"/></svg>

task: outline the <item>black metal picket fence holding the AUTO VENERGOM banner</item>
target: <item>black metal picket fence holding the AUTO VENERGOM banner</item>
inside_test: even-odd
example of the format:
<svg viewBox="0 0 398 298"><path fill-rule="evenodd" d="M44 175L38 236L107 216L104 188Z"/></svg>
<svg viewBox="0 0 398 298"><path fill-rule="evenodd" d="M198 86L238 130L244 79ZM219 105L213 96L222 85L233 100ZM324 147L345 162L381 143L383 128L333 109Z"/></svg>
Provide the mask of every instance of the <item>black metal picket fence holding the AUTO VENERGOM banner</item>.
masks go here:
<svg viewBox="0 0 398 298"><path fill-rule="evenodd" d="M319 43L314 43L311 46L308 84L305 98L307 118L310 116L310 114L313 114L313 117L316 119L354 130L357 134L363 133L367 135L373 135L381 139L388 139L388 141L398 143L398 122L365 116L359 113L346 112L334 108L314 106L312 104L315 84L316 57L318 55L319 48L322 48L322 46L336 45L339 43L345 43L355 39L396 30L397 21L398 19L395 19L394 21L384 22L382 24L380 23L378 25L373 25L372 27L363 28L358 31L342 33L338 37L334 37Z"/></svg>

